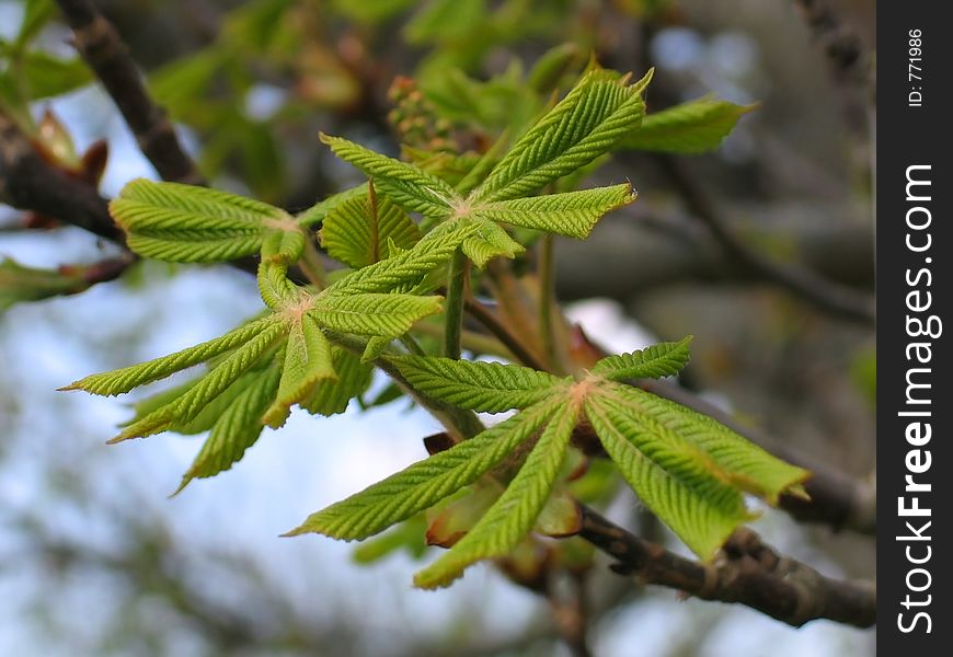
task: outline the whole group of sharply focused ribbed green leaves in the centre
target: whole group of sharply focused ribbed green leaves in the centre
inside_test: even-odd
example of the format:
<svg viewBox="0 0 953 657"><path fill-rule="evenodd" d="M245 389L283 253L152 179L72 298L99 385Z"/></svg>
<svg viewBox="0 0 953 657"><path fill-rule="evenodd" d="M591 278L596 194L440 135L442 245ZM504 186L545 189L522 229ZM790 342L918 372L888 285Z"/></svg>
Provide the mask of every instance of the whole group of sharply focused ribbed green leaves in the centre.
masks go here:
<svg viewBox="0 0 953 657"><path fill-rule="evenodd" d="M184 486L229 469L265 426L280 427L296 405L323 415L344 411L377 365L428 407L518 413L483 431L457 431L469 439L314 514L292 533L365 539L467 487L491 491L475 525L417 577L423 587L445 585L475 561L506 555L535 526L559 525L548 505L555 497L563 508L575 504L560 479L574 430L586 426L646 506L710 558L753 517L743 494L774 502L796 492L806 473L704 416L621 382L677 372L688 358L687 342L611 356L560 378L421 355L413 337L421 320L451 316L434 293L451 261L464 257L464 266L482 268L519 255L525 244L514 229L584 239L607 212L634 200L629 183L538 194L565 188L639 135L650 80L651 73L630 83L593 68L512 145L501 138L482 155L459 159L462 173L453 176L425 157L411 158L417 165L322 135L369 182L297 216L223 192L134 181L111 205L130 249L183 263L257 255L265 310L226 335L68 389L115 395L204 366L197 378L140 403L114 438L208 431ZM707 126L710 116L693 110L662 115L648 141L666 130L679 135L686 150L720 140L723 135L712 135L721 127ZM344 265L332 276L319 270L310 244L315 228L328 254ZM309 274L308 284L289 274L296 265Z"/></svg>

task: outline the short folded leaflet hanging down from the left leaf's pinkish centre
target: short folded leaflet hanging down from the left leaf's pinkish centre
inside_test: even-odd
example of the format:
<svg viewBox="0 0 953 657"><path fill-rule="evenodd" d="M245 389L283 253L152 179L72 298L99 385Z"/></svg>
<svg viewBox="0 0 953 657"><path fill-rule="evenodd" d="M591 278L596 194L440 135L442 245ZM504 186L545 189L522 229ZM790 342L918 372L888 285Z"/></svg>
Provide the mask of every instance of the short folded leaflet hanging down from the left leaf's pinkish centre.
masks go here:
<svg viewBox="0 0 953 657"><path fill-rule="evenodd" d="M277 399L264 415L265 424L282 426L294 404L306 399L319 381L334 378L331 343L313 318L301 315L291 323Z"/></svg>

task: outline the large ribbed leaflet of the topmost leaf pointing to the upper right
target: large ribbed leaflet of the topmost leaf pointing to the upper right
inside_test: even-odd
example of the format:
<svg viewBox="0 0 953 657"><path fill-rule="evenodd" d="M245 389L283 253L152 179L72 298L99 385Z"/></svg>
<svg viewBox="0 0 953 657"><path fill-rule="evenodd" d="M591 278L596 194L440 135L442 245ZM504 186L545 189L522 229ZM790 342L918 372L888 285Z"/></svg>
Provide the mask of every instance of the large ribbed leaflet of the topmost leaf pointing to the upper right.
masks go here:
<svg viewBox="0 0 953 657"><path fill-rule="evenodd" d="M514 145L474 191L484 203L527 196L607 152L642 120L641 83L595 70ZM644 87L644 84L643 84Z"/></svg>

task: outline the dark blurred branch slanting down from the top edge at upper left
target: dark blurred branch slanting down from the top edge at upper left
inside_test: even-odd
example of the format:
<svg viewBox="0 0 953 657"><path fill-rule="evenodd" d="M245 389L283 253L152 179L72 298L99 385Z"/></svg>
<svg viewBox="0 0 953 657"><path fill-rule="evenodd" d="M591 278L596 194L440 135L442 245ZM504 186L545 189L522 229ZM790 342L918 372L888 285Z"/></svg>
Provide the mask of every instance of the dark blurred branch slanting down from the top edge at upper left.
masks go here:
<svg viewBox="0 0 953 657"><path fill-rule="evenodd" d="M203 185L165 112L149 97L119 34L90 0L57 0L72 27L76 48L95 71L136 136L142 153L164 181Z"/></svg>

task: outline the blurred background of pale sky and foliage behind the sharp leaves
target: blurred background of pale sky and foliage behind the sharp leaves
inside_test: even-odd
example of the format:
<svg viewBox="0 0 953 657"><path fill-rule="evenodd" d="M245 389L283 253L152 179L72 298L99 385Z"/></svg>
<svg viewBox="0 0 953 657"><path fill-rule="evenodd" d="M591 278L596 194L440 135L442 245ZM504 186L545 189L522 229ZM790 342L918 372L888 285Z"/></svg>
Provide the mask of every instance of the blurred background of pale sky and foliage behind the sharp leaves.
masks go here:
<svg viewBox="0 0 953 657"><path fill-rule="evenodd" d="M483 152L526 125L590 56L635 76L656 67L650 113L710 93L758 103L721 149L681 165L753 249L872 290L873 73L845 74L797 4L97 2L207 178L290 210L359 182L318 143L319 130L393 154L411 145L418 150L403 154L421 161ZM829 4L873 51L875 3ZM54 2L2 1L0 26L0 103L51 158L110 195L135 175L154 177L91 85ZM583 301L575 316L620 350L645 335L694 334L686 384L820 460L858 476L872 472L873 328L831 318L739 266L653 153L619 153L594 184L625 178L640 192L636 204L592 240L556 245L560 296ZM489 570L451 592L411 593L409 554L345 568L349 546L272 538L424 454L420 438L432 427L403 403L328 424L292 418L234 473L167 502L162 493L174 488L193 440L106 450L100 438L124 412L51 391L228 328L255 311L253 281L240 272L146 263L77 297L16 303L84 290L82 267L116 253L2 206L0 227L0 255L16 258L0 264L0 653L562 649L544 603ZM43 277L28 268L43 268ZM665 540L632 499L616 507L630 527ZM758 528L831 574L874 573L869 538L795 526L780 514ZM633 588L608 573L589 587L598 655L873 650L870 633L825 623L795 631L746 610L677 602L670 591Z"/></svg>

